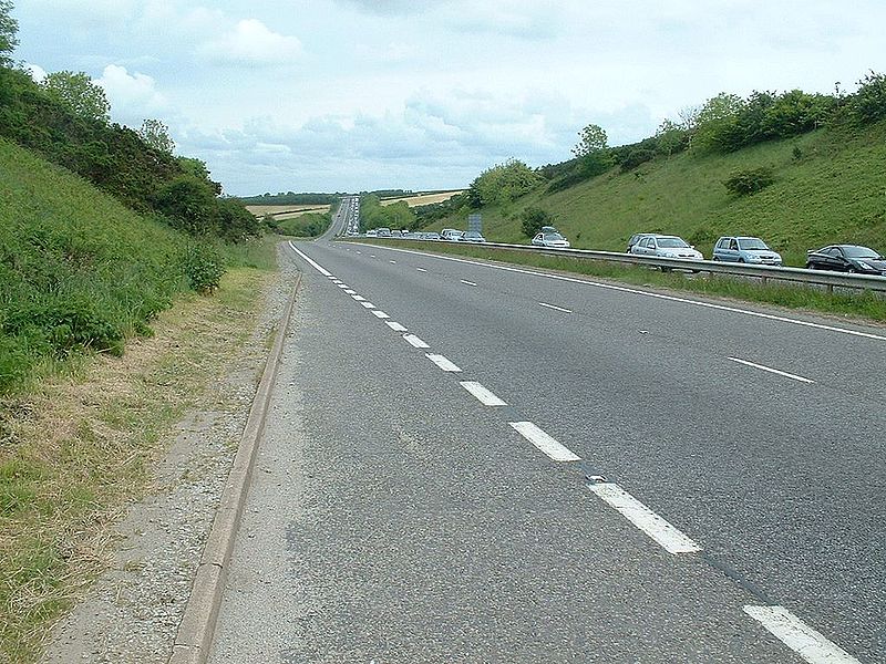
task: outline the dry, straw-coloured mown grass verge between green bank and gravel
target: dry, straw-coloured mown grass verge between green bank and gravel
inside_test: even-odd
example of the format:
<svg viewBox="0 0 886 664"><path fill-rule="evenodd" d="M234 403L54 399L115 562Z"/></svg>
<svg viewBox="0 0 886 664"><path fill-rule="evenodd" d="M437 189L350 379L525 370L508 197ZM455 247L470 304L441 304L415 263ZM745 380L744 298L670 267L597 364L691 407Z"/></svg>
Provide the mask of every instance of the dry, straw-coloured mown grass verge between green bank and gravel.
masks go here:
<svg viewBox="0 0 886 664"><path fill-rule="evenodd" d="M0 661L35 662L107 563L111 526L150 490L171 427L256 329L275 276L251 247L212 298L182 297L122 357L82 357L0 405Z"/></svg>

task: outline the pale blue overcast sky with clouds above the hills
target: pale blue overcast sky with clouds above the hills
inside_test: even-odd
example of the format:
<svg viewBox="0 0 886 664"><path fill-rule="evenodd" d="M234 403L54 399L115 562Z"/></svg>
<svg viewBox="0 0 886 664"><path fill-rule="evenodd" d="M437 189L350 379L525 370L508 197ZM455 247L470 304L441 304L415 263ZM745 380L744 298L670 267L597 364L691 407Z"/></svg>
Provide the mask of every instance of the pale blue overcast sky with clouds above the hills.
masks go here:
<svg viewBox="0 0 886 664"><path fill-rule="evenodd" d="M884 0L14 0L35 70L165 122L225 191L460 188L655 134L719 92L855 90Z"/></svg>

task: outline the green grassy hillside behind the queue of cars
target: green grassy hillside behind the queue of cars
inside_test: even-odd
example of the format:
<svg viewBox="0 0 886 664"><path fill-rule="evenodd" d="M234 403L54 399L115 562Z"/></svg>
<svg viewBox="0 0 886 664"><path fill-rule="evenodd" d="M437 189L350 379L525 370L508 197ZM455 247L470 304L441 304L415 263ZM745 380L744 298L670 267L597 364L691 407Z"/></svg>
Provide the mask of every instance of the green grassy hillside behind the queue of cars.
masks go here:
<svg viewBox="0 0 886 664"><path fill-rule="evenodd" d="M730 194L735 170L769 166L775 183L750 196ZM546 184L545 184L546 185ZM729 154L687 151L622 173L619 168L546 194L546 186L505 207L484 207L484 235L526 242L521 212L538 207L575 247L624 251L633 232L680 235L710 257L721 235L763 237L802 264L806 249L857 242L886 251L886 122L818 129ZM466 209L434 228L464 227Z"/></svg>

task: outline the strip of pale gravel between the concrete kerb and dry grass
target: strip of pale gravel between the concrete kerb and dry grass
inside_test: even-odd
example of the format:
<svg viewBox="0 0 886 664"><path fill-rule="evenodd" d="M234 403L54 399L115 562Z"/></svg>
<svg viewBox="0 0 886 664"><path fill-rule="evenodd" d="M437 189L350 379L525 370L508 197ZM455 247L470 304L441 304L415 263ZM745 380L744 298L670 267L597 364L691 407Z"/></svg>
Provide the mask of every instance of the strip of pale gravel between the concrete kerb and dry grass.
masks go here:
<svg viewBox="0 0 886 664"><path fill-rule="evenodd" d="M153 490L113 529L112 564L56 625L47 664L167 661L253 404L267 340L298 273L280 251L278 279L261 293L262 312L248 343L207 390L200 407L169 432Z"/></svg>

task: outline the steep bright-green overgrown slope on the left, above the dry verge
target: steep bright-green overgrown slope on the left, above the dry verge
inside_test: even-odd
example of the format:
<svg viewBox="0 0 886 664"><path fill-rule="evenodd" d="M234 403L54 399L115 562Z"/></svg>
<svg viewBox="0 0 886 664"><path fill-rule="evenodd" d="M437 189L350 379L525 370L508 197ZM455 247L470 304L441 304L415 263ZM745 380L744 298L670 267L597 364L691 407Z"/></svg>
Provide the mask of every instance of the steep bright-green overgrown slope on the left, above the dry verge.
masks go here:
<svg viewBox="0 0 886 664"><path fill-rule="evenodd" d="M189 288L187 245L0 139L0 392L84 349L122 352Z"/></svg>

